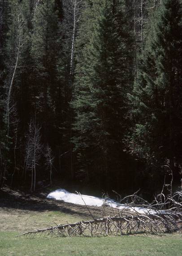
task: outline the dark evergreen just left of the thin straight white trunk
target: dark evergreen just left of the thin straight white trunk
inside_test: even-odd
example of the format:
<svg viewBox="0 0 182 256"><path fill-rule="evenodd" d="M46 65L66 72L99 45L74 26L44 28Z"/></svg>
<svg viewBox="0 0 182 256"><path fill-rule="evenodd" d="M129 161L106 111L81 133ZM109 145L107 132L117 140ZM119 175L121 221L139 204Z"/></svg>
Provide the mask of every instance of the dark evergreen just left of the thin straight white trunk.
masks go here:
<svg viewBox="0 0 182 256"><path fill-rule="evenodd" d="M37 5L33 18L30 81L32 110L36 111L42 126L42 141L52 147L55 165L65 172L70 169L68 159L65 163L60 157L70 150L71 119L71 33L66 4L70 1L46 0Z"/></svg>

